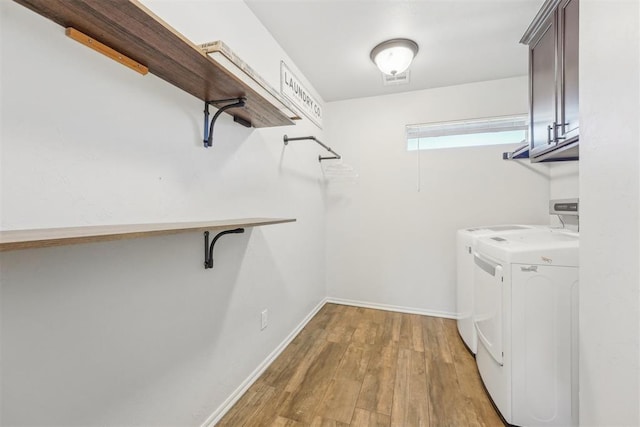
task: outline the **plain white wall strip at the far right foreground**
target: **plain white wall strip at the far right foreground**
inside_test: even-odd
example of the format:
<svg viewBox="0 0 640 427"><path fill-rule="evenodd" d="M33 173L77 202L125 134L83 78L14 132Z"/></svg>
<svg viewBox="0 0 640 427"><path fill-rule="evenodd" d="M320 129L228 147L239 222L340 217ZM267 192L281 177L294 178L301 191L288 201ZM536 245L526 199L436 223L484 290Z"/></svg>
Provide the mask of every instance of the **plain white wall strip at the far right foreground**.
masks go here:
<svg viewBox="0 0 640 427"><path fill-rule="evenodd" d="M640 3L580 3L580 424L640 425Z"/></svg>

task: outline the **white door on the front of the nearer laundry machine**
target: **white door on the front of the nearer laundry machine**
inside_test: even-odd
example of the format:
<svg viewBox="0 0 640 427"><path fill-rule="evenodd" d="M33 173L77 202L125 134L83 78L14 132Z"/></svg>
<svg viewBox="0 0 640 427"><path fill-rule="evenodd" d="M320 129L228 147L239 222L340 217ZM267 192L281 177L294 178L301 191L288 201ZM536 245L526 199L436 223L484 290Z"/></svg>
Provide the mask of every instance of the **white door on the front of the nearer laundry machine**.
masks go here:
<svg viewBox="0 0 640 427"><path fill-rule="evenodd" d="M502 265L474 254L474 325L483 345L500 365L502 353Z"/></svg>

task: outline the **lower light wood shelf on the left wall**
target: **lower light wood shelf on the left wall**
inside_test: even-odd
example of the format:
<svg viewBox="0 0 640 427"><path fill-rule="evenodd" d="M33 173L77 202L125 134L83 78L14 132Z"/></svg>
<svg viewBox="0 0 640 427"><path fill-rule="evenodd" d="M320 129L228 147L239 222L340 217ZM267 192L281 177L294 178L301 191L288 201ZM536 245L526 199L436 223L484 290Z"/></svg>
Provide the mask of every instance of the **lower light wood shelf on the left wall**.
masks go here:
<svg viewBox="0 0 640 427"><path fill-rule="evenodd" d="M109 240L136 239L193 231L224 231L294 221L294 218L242 218L221 221L9 230L0 231L0 252Z"/></svg>

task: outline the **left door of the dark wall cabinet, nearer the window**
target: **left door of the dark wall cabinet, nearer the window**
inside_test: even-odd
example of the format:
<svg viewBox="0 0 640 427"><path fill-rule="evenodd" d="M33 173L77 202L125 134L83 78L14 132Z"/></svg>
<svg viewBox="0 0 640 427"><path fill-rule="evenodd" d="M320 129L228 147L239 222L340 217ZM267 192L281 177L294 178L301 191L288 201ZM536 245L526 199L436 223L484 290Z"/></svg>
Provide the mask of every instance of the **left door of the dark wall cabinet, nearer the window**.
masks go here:
<svg viewBox="0 0 640 427"><path fill-rule="evenodd" d="M553 16L545 26L529 50L532 156L552 146L553 129L548 127L556 121L556 31Z"/></svg>

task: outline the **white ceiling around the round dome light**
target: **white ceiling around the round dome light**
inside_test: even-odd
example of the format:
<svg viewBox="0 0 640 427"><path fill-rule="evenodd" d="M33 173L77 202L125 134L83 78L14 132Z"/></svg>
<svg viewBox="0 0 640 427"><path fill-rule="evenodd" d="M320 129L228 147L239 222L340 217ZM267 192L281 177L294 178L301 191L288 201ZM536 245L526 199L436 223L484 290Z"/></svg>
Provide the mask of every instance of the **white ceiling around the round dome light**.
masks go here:
<svg viewBox="0 0 640 427"><path fill-rule="evenodd" d="M518 41L543 0L245 0L325 101L527 74ZM383 86L369 59L392 38L420 51L410 83Z"/></svg>

